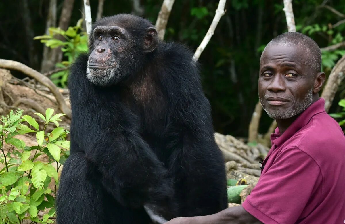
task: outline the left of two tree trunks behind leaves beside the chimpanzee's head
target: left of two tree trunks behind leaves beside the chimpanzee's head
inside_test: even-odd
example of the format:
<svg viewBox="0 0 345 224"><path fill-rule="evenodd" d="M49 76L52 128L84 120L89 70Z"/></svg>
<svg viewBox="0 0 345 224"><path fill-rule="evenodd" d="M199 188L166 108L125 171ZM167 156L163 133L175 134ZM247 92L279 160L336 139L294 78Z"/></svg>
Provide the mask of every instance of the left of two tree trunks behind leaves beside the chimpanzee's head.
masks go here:
<svg viewBox="0 0 345 224"><path fill-rule="evenodd" d="M56 4L57 0L50 0L49 11L46 23L46 34L49 35L49 28L56 26ZM49 72L54 69L52 59L52 49L49 47L43 47L42 62L41 62L41 73Z"/></svg>

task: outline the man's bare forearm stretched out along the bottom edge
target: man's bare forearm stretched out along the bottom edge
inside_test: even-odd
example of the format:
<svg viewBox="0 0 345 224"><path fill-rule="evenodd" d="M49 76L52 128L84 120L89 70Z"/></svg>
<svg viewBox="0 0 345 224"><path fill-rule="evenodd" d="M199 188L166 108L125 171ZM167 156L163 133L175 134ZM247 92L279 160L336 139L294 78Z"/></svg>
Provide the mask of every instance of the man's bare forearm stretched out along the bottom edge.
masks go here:
<svg viewBox="0 0 345 224"><path fill-rule="evenodd" d="M179 217L166 224L259 224L253 215L249 214L242 206L227 208L221 212L207 216Z"/></svg>

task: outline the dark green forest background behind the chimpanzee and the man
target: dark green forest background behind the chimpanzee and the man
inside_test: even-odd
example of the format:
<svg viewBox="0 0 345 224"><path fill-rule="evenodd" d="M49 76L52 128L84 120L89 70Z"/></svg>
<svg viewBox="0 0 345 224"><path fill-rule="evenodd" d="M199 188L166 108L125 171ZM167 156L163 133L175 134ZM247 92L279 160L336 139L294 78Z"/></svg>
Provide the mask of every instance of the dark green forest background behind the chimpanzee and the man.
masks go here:
<svg viewBox="0 0 345 224"><path fill-rule="evenodd" d="M155 24L161 4L161 0L90 0L93 21L100 16L133 13ZM195 51L214 18L217 5L218 1L176 0L164 40L183 43ZM212 106L216 132L248 137L258 102L260 54L272 38L287 31L283 8L280 0L227 1L226 13L199 58L203 89ZM19 61L42 74L48 72L56 85L66 87L68 70L63 67L79 51L87 50L86 39L81 38L75 49L63 53L60 48L45 47L34 37L49 34L48 27L62 30L75 27L84 16L83 11L81 0L0 1L0 58ZM296 30L313 38L322 48L322 69L328 76L345 53L345 0L294 0L293 11ZM85 24L80 26L85 31ZM79 33L80 29L75 31ZM61 61L65 62L61 64ZM62 69L56 70L59 67ZM26 77L18 71L12 71L12 75ZM329 110L339 113L337 121L344 119L341 118L343 107L338 104L344 98L342 81ZM265 134L271 123L272 119L262 113L258 132Z"/></svg>

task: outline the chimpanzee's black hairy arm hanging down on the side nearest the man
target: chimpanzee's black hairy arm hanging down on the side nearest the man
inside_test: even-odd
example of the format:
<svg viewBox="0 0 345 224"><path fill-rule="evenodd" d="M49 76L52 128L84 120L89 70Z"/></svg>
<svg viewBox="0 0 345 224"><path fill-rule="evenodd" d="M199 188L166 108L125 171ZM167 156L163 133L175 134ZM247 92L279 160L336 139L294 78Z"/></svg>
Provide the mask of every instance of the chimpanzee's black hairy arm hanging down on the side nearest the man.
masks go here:
<svg viewBox="0 0 345 224"><path fill-rule="evenodd" d="M210 105L201 88L198 63L183 47L173 46L169 52L165 61L171 64L161 73L166 75L161 85L171 103L169 114L179 130L170 167L174 177L184 180L178 188L188 192L176 192L178 197L185 198L179 215L217 213L227 207L225 165L215 143Z"/></svg>

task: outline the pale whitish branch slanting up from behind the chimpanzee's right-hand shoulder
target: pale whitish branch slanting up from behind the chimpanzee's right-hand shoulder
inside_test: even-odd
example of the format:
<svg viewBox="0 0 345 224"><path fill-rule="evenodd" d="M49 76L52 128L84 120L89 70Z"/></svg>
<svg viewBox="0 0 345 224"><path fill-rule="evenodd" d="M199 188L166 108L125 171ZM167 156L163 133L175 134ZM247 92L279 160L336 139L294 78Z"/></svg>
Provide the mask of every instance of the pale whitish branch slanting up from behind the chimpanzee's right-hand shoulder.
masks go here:
<svg viewBox="0 0 345 224"><path fill-rule="evenodd" d="M224 11L225 3L226 3L226 0L219 0L218 8L216 10L215 17L213 18L211 26L208 29L203 41L201 41L199 47L195 51L194 60L197 61L199 59L199 57L200 57L201 53L204 51L207 43L210 41L211 37L213 36L214 31L218 25L220 18L225 14L225 11Z"/></svg>

